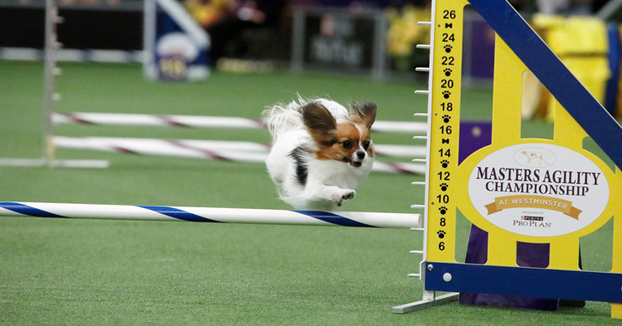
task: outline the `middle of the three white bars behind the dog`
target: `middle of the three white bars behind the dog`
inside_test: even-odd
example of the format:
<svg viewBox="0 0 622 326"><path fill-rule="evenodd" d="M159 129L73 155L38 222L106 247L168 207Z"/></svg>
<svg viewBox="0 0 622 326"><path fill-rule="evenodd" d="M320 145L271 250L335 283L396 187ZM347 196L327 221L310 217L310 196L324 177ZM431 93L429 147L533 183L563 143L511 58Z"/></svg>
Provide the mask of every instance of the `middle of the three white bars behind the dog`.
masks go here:
<svg viewBox="0 0 622 326"><path fill-rule="evenodd" d="M206 151L240 151L240 152L258 152L267 153L272 148L270 144L263 144L249 141L225 141L225 140L192 140L177 139L163 140L153 138L115 138L115 137L54 137L54 145L56 147L80 148L80 144L97 144L102 146L131 146L140 148L165 148L165 147L181 147L193 148ZM86 145L88 147L88 145ZM86 148L85 148L86 149ZM427 149L425 146L406 146L406 145L380 145L374 144L374 153L379 156L394 157L425 157Z"/></svg>

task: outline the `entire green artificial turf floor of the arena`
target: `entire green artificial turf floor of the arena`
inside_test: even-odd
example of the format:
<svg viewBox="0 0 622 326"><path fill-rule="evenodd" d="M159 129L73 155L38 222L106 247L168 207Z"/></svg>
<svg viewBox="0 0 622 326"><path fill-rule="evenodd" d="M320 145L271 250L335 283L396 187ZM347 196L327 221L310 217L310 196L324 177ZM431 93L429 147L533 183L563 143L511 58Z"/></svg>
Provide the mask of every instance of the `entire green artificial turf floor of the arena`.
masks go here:
<svg viewBox="0 0 622 326"><path fill-rule="evenodd" d="M379 120L414 121L424 85L287 72L214 73L204 83L153 83L139 66L62 65L59 112L196 114L257 118L270 104L306 97L373 100ZM41 153L42 65L0 62L0 153ZM465 119L489 119L492 92L468 90ZM488 109L487 109L488 108ZM532 135L550 126L525 122ZM58 126L65 136L233 139L265 131ZM411 135L376 143L416 144ZM109 159L108 169L0 168L0 201L287 209L265 167L59 150L61 159ZM412 212L423 176L372 174L345 210ZM469 224L459 224L464 257ZM611 266L611 223L582 239L584 266ZM0 323L5 325L619 325L609 305L538 312L461 306L405 314L421 298L407 278L422 235L407 230L0 218Z"/></svg>

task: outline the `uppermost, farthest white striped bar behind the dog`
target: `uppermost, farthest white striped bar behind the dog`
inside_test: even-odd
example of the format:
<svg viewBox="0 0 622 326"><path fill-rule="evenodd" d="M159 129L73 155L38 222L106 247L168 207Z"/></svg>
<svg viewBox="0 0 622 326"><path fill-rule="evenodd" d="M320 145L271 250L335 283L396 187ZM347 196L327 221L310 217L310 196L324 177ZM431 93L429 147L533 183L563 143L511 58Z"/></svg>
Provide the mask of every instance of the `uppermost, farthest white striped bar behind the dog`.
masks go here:
<svg viewBox="0 0 622 326"><path fill-rule="evenodd" d="M123 125L123 126L162 126L192 128L265 128L263 121L239 117L214 117L193 115L151 115L126 113L54 113L55 124L78 123L90 125ZM427 133L427 124L423 122L376 121L373 131L393 133Z"/></svg>

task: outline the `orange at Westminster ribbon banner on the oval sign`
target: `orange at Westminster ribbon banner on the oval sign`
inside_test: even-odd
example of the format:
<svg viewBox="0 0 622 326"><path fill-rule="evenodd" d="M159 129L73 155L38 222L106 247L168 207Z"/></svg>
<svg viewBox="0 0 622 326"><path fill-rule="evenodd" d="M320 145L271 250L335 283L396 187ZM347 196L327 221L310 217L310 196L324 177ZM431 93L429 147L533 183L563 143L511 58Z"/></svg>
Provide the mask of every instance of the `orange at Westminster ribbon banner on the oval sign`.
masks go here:
<svg viewBox="0 0 622 326"><path fill-rule="evenodd" d="M564 199L535 195L515 195L497 197L495 201L486 205L488 215L500 212L508 208L530 207L543 208L562 212L574 219L579 219L582 210L573 207L572 202Z"/></svg>

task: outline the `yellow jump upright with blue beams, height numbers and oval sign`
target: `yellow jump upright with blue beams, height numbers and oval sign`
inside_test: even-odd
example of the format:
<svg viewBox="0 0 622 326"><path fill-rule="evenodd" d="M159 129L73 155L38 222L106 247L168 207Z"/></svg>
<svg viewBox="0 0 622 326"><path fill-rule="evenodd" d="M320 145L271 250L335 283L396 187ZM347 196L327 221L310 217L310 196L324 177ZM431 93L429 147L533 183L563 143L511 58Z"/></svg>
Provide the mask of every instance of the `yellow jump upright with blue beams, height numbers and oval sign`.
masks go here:
<svg viewBox="0 0 622 326"><path fill-rule="evenodd" d="M492 137L459 162L467 5L496 32ZM622 129L505 0L436 0L432 16L425 291L604 301L622 318ZM521 135L529 73L560 103L552 139ZM458 211L487 232L485 264L456 262ZM580 238L611 219L612 270L581 271ZM518 243L548 244L548 265L519 267Z"/></svg>

